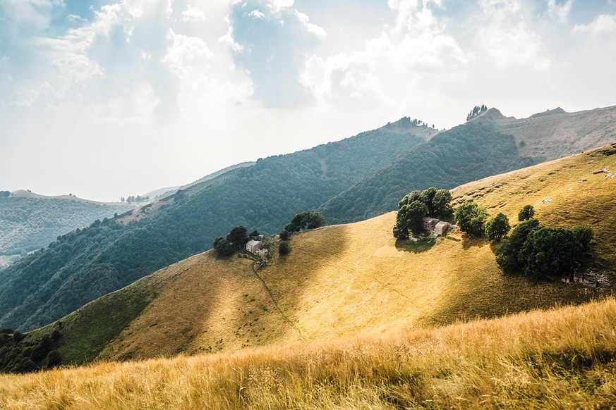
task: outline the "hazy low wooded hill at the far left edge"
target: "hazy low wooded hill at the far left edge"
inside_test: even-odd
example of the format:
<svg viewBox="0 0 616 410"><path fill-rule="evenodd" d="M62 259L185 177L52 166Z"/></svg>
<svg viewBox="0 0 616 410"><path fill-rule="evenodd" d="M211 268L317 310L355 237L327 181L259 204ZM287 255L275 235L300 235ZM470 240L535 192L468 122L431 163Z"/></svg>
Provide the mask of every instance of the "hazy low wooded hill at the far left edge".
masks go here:
<svg viewBox="0 0 616 410"><path fill-rule="evenodd" d="M112 218L134 206L81 199L73 194L47 197L30 191L0 192L0 255L45 247L61 235Z"/></svg>

